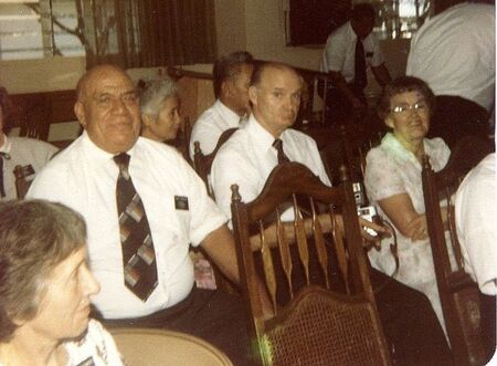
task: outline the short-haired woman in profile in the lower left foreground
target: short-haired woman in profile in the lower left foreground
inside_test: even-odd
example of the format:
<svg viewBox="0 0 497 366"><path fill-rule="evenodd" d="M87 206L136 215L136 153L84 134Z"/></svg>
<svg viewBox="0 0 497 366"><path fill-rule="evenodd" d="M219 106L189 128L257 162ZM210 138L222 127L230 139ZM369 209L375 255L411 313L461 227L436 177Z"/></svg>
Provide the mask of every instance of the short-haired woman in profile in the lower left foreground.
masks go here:
<svg viewBox="0 0 497 366"><path fill-rule="evenodd" d="M88 316L99 285L85 242L83 218L63 205L0 203L0 365L123 365Z"/></svg>

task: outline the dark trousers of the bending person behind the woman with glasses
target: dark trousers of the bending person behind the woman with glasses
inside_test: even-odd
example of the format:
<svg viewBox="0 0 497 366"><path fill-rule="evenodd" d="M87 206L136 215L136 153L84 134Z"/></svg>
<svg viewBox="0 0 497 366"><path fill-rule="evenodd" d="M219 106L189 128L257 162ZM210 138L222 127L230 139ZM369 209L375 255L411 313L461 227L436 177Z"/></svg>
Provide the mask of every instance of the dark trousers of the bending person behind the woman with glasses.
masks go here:
<svg viewBox="0 0 497 366"><path fill-rule="evenodd" d="M442 137L452 149L464 136L488 139L489 114L480 105L453 95L437 95L429 137Z"/></svg>

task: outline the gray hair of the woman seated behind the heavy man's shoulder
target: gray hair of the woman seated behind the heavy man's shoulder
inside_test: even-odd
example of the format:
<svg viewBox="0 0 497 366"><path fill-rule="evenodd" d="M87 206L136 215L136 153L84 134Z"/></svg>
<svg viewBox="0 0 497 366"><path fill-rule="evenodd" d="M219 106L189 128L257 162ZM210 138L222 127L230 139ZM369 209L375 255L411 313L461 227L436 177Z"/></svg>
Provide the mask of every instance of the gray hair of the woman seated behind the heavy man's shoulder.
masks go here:
<svg viewBox="0 0 497 366"><path fill-rule="evenodd" d="M140 97L141 114L157 116L162 102L170 96L176 96L177 93L178 88L169 77L147 82Z"/></svg>

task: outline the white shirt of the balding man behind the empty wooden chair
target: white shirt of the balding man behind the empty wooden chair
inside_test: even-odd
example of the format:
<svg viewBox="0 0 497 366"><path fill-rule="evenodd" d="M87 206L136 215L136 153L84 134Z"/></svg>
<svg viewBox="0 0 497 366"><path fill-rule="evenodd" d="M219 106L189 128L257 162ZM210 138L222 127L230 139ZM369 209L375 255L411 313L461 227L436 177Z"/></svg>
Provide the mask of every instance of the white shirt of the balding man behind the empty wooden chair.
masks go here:
<svg viewBox="0 0 497 366"><path fill-rule="evenodd" d="M307 166L325 185L331 186L322 165L316 142L309 136L287 128L279 136L285 155ZM231 185L239 185L244 202L258 196L271 171L278 164L271 135L253 115L236 130L215 155L211 169L211 184L215 202L231 218Z"/></svg>

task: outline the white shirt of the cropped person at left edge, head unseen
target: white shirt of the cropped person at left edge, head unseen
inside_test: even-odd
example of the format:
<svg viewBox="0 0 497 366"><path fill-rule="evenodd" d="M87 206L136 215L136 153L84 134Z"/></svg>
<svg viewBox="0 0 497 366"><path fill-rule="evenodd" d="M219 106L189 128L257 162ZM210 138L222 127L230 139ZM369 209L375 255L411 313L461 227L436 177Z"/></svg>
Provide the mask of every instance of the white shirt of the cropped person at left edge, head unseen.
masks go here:
<svg viewBox="0 0 497 366"><path fill-rule="evenodd" d="M8 136L4 136L4 138L0 151L7 154L7 157L3 157L3 187L6 189L6 197L1 199L8 200L18 197L15 176L13 174L15 166L20 165L25 167L31 165L34 174L36 174L57 151L57 148L49 143L34 138ZM32 178L34 176L27 177L27 179Z"/></svg>

